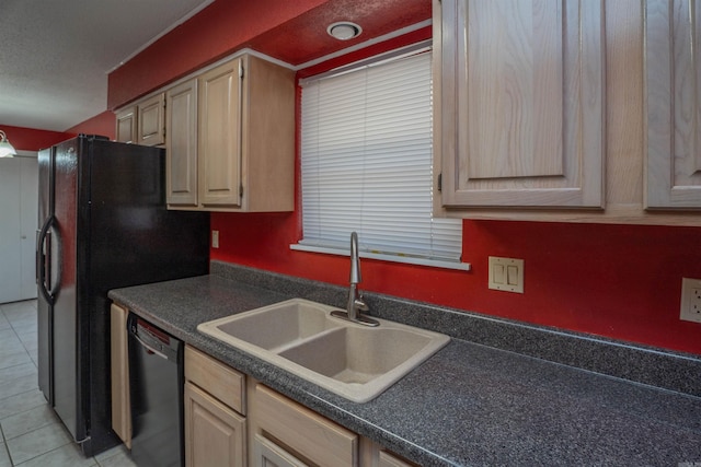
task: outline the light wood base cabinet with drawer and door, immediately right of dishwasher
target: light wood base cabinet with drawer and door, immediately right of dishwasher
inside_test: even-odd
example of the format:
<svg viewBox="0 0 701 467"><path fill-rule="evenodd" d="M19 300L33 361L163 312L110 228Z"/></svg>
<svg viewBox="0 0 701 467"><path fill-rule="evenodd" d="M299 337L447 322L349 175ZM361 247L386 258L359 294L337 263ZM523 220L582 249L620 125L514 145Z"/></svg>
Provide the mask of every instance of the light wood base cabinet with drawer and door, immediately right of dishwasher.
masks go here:
<svg viewBox="0 0 701 467"><path fill-rule="evenodd" d="M246 465L245 377L185 347L185 465Z"/></svg>

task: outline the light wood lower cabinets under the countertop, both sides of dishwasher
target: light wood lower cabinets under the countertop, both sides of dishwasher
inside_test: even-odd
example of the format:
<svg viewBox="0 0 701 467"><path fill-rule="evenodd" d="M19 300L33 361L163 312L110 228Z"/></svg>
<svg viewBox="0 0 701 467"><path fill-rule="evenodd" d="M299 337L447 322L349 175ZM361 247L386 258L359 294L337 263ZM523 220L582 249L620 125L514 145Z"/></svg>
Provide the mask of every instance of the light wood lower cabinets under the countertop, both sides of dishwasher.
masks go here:
<svg viewBox="0 0 701 467"><path fill-rule="evenodd" d="M112 428L131 447L128 310L111 310ZM411 462L185 346L186 467L412 467Z"/></svg>

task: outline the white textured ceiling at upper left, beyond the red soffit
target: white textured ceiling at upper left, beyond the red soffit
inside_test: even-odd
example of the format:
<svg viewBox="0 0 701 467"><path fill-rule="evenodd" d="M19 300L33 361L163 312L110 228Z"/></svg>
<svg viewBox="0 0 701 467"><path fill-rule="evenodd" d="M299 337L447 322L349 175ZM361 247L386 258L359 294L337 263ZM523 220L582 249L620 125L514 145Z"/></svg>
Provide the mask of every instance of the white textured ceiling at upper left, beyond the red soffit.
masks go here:
<svg viewBox="0 0 701 467"><path fill-rule="evenodd" d="M107 72L212 0L2 0L0 124L65 131L106 109Z"/></svg>

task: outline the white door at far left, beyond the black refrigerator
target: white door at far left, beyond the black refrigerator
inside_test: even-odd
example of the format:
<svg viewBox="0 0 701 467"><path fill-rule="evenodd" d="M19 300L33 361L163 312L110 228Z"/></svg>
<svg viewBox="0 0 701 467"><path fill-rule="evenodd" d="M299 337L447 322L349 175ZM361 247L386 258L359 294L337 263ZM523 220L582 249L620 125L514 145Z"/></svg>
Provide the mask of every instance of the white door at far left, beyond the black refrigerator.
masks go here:
<svg viewBox="0 0 701 467"><path fill-rule="evenodd" d="M0 303L36 297L38 170L33 155L0 159Z"/></svg>

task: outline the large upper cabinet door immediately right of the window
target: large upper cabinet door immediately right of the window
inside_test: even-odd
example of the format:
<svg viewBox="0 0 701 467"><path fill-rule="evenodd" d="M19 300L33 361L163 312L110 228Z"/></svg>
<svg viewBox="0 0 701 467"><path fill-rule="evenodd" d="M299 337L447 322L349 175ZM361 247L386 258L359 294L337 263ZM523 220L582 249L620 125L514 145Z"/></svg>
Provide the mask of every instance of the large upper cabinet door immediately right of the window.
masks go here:
<svg viewBox="0 0 701 467"><path fill-rule="evenodd" d="M601 0L443 0L446 207L604 206Z"/></svg>

